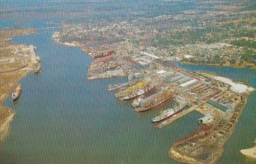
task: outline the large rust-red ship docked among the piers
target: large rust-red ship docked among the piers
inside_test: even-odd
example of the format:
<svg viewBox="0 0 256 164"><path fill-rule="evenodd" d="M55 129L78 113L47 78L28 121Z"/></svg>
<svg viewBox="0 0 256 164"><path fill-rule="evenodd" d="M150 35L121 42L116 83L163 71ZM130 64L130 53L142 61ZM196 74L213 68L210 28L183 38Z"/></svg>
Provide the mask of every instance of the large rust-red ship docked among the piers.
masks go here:
<svg viewBox="0 0 256 164"><path fill-rule="evenodd" d="M152 99L149 99L147 102L143 103L142 107L136 108L136 111L147 111L152 108L157 108L160 105L164 105L167 101L173 99L173 91L165 90L160 93L158 96L153 96Z"/></svg>

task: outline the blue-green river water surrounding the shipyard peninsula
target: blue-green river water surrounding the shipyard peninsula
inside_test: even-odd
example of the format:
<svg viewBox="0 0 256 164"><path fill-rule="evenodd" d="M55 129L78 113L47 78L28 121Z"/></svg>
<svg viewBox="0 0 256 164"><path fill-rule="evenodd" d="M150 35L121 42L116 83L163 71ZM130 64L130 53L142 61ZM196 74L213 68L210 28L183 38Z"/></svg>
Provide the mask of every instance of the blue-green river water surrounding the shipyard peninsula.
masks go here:
<svg viewBox="0 0 256 164"><path fill-rule="evenodd" d="M201 115L193 112L155 129L150 120L159 110L138 114L107 91L109 83L125 82L126 78L88 81L90 57L79 48L55 44L51 34L15 38L15 42L38 48L42 71L21 80L23 90L15 104L5 101L16 110L16 116L0 146L0 163L177 163L167 156L167 150L196 129ZM249 69L181 66L246 80L256 87L256 71ZM219 163L247 163L239 150L252 146L256 136L255 100L253 93Z"/></svg>

